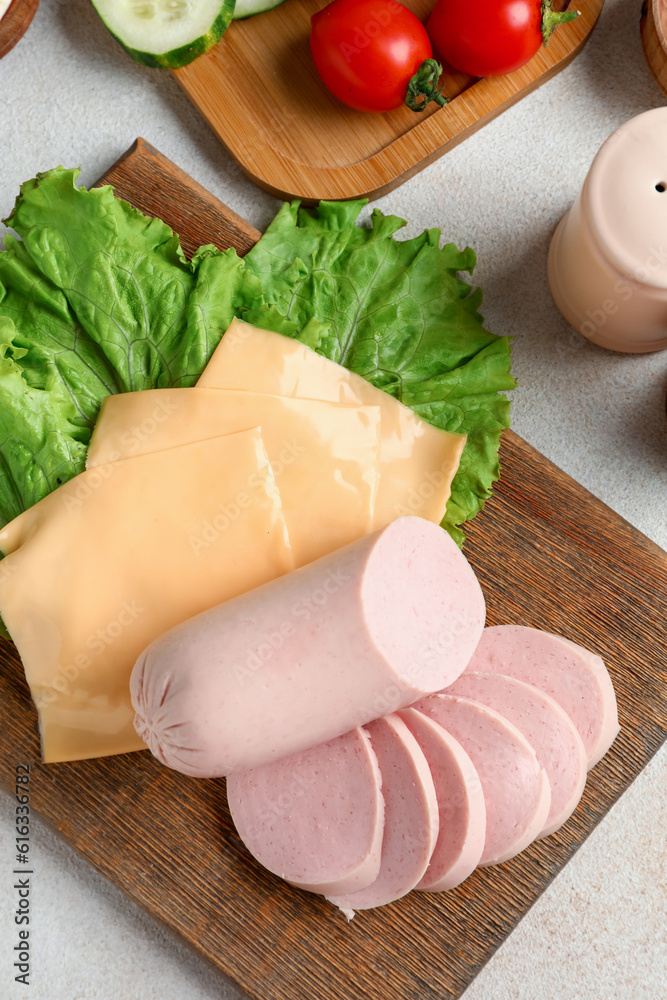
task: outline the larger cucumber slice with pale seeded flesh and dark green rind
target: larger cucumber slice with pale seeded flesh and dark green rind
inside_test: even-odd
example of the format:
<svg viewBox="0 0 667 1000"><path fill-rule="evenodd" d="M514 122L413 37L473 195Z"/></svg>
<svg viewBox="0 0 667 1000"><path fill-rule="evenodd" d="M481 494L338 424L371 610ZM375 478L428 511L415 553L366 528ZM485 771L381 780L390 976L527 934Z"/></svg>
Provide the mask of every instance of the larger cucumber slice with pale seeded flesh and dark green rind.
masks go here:
<svg viewBox="0 0 667 1000"><path fill-rule="evenodd" d="M92 0L105 25L144 66L179 69L220 41L234 0Z"/></svg>

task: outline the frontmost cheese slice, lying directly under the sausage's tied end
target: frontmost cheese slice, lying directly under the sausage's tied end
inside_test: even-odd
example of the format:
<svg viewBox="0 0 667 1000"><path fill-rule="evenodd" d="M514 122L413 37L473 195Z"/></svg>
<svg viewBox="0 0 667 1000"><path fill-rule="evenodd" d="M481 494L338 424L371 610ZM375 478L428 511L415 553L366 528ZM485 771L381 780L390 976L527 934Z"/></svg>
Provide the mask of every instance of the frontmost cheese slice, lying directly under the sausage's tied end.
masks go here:
<svg viewBox="0 0 667 1000"><path fill-rule="evenodd" d="M0 532L44 760L145 749L129 677L173 625L293 569L259 429L84 472Z"/></svg>

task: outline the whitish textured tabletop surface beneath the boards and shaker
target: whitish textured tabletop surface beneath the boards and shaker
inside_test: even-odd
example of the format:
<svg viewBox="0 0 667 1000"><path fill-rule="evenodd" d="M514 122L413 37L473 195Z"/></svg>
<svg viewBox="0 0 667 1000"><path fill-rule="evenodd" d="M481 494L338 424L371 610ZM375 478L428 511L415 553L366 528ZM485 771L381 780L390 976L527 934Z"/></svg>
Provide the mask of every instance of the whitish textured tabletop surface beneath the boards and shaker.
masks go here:
<svg viewBox="0 0 667 1000"><path fill-rule="evenodd" d="M626 357L592 347L561 320L546 282L550 234L602 141L666 103L644 65L639 8L607 0L571 67L379 204L409 217L410 233L440 225L447 239L475 247L487 325L516 338L514 428L667 547L667 352ZM90 183L137 135L258 227L275 212L277 202L231 163L170 77L135 66L87 0L42 0L0 62L0 95L0 214L36 171L81 165ZM33 985L15 986L12 809L0 797L0 996L236 996L41 823L32 842ZM663 750L466 1000L667 997L666 831Z"/></svg>

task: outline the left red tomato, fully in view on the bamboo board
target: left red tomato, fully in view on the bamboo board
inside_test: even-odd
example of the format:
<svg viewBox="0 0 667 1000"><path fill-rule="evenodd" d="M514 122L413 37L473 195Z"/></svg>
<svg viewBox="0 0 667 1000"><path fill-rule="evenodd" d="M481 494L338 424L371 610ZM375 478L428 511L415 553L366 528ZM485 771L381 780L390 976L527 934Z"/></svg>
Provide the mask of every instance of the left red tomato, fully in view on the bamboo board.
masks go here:
<svg viewBox="0 0 667 1000"><path fill-rule="evenodd" d="M431 43L397 0L333 0L311 18L310 51L326 87L357 111L392 111Z"/></svg>

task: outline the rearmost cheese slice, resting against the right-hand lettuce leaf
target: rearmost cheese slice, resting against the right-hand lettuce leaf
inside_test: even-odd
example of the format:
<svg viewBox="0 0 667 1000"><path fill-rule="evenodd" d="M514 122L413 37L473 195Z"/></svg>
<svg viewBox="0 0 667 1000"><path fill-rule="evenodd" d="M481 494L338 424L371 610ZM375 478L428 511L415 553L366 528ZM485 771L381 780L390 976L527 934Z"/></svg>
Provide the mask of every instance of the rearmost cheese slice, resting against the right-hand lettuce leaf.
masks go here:
<svg viewBox="0 0 667 1000"><path fill-rule="evenodd" d="M421 420L393 396L300 341L234 320L197 385L379 406L380 485L373 527L402 514L438 524L445 516L465 435Z"/></svg>

